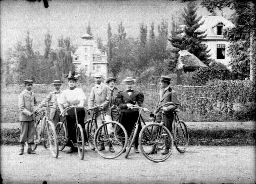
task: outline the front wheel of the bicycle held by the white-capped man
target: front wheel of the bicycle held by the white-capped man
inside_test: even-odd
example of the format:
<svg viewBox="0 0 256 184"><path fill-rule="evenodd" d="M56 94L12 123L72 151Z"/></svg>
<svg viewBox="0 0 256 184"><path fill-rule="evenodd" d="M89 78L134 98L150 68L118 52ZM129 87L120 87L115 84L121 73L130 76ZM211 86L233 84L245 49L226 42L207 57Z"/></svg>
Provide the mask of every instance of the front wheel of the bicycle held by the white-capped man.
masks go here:
<svg viewBox="0 0 256 184"><path fill-rule="evenodd" d="M114 159L124 152L127 145L127 132L124 126L116 121L106 122L105 126L116 126L119 131L115 133L107 130L105 132L104 124L102 124L95 132L95 149L102 157ZM110 150L111 147L113 149Z"/></svg>

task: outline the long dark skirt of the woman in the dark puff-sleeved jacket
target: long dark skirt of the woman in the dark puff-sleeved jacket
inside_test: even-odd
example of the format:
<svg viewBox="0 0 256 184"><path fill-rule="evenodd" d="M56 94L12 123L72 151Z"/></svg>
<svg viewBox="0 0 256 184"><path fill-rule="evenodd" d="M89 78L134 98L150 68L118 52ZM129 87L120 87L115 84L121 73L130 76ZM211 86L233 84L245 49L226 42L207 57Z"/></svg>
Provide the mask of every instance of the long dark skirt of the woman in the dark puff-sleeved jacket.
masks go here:
<svg viewBox="0 0 256 184"><path fill-rule="evenodd" d="M119 122L124 126L125 130L127 131L128 137L130 137L133 126L137 122L139 117L139 111L134 112L121 112ZM141 124L139 119L139 129L135 137L134 145L138 147L139 145L139 134L141 130Z"/></svg>

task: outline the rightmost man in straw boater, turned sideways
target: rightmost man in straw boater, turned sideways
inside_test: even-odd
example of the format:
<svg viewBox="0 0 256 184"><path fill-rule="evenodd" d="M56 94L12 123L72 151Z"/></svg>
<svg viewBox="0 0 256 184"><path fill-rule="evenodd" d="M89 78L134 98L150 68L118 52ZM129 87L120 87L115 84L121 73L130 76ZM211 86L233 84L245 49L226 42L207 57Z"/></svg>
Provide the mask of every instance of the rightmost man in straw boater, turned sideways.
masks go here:
<svg viewBox="0 0 256 184"><path fill-rule="evenodd" d="M163 122L164 126L172 132L172 120L173 120L173 113L172 109L178 108L178 105L169 105L167 107L164 107L162 110L158 109L161 105L167 102L174 102L178 103L177 94L176 92L169 86L171 82L171 77L169 76L161 76L161 79L158 79L161 82L161 90L159 92L158 101L156 104L156 108L154 111L154 114L156 116L156 123L161 123L162 120L162 111L164 111L163 116ZM159 111L158 111L159 110ZM158 111L158 112L157 112ZM165 144L165 150L162 154L168 154L170 146L168 144ZM152 148L148 154L155 154L156 153L156 146Z"/></svg>

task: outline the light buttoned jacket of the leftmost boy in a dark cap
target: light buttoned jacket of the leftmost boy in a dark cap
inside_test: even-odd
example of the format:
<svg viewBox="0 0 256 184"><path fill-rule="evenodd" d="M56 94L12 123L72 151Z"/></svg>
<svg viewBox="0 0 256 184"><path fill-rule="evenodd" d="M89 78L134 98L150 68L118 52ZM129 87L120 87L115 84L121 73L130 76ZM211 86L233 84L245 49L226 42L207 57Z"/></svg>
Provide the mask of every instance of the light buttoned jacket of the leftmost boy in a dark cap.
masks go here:
<svg viewBox="0 0 256 184"><path fill-rule="evenodd" d="M36 95L31 91L31 97L28 90L24 90L19 95L20 121L32 121L33 117L29 116L34 110Z"/></svg>

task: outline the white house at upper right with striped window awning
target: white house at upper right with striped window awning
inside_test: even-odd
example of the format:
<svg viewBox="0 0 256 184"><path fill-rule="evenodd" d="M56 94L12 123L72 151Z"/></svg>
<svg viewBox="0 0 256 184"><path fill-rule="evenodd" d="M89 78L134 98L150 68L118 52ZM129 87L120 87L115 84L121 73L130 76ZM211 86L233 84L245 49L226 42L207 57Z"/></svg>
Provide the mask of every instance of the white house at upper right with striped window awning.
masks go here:
<svg viewBox="0 0 256 184"><path fill-rule="evenodd" d="M204 21L204 24L198 30L206 31L207 36L201 44L208 46L212 59L228 67L231 60L228 56L229 42L223 37L222 31L227 27L233 27L234 24L221 16L202 16L200 22L202 21ZM231 69L231 67L228 68Z"/></svg>

